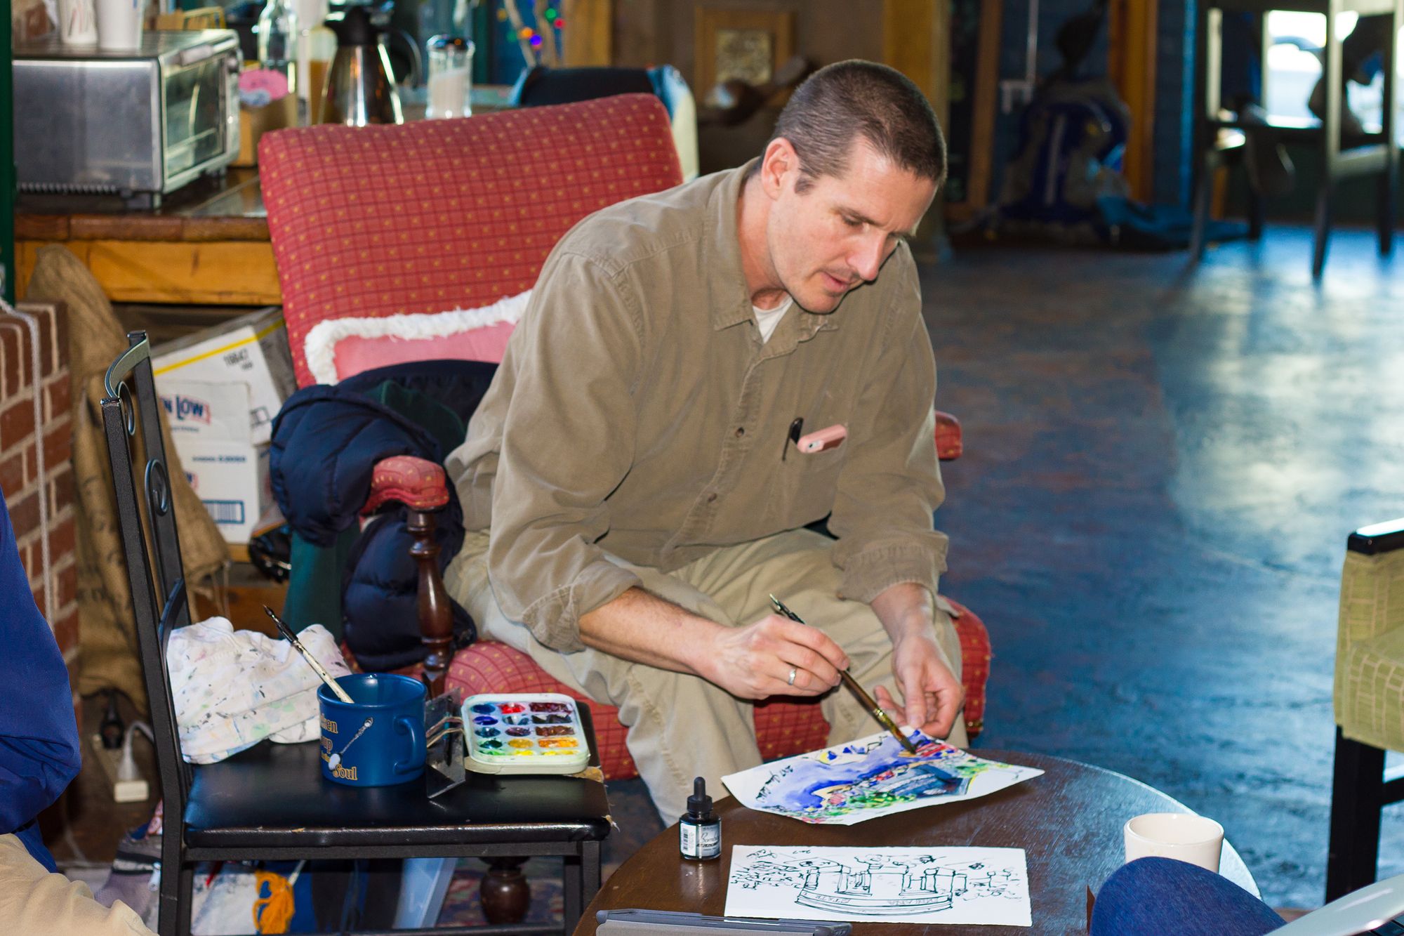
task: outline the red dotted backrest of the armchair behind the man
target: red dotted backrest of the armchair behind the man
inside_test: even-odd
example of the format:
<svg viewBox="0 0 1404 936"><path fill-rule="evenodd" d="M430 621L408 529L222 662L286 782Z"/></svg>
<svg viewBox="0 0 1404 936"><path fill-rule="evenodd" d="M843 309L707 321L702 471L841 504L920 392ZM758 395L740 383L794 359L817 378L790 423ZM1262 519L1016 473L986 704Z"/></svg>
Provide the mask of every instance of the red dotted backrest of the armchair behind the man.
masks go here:
<svg viewBox="0 0 1404 936"><path fill-rule="evenodd" d="M258 163L299 386L316 323L517 295L577 221L682 178L651 94L278 131Z"/></svg>

